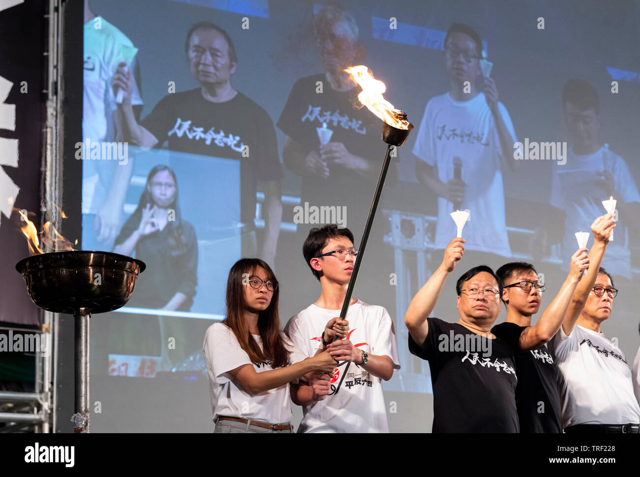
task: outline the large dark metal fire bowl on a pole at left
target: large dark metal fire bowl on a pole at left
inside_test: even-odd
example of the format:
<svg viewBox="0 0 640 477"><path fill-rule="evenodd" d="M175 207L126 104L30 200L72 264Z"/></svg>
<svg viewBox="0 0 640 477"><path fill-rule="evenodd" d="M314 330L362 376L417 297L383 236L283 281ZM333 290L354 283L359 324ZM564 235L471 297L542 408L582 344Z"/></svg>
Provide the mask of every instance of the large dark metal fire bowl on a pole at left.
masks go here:
<svg viewBox="0 0 640 477"><path fill-rule="evenodd" d="M15 268L38 307L74 314L81 308L104 313L124 306L146 265L112 252L74 250L34 255L20 260Z"/></svg>

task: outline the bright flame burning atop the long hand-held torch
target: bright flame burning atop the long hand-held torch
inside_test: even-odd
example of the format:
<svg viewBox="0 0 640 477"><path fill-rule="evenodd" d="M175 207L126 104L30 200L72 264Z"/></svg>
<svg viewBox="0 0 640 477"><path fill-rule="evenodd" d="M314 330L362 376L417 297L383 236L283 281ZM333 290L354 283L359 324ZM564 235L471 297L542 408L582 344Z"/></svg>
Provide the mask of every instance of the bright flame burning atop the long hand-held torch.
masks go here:
<svg viewBox="0 0 640 477"><path fill-rule="evenodd" d="M409 122L403 111L394 108L382 95L387 90L385 83L375 79L365 65L352 66L345 69L351 75L353 81L358 83L362 92L358 94L358 100L362 102L369 111L374 113L388 125L398 129L409 129Z"/></svg>

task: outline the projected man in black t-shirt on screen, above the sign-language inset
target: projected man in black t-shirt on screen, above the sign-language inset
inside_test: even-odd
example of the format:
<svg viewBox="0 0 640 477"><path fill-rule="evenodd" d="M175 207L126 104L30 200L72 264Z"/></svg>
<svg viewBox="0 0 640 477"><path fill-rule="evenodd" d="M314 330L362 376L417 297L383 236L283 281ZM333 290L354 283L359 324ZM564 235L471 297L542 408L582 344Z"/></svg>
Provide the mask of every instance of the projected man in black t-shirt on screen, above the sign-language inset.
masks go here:
<svg viewBox="0 0 640 477"><path fill-rule="evenodd" d="M196 23L187 34L185 51L200 87L166 95L140 124L131 108L132 77L120 64L111 84L125 92L118 105L124 140L141 147L160 147L168 141L170 150L240 161L243 255L258 252L247 244L255 242L255 193L261 181L266 232L260 256L273 265L282 218L282 168L273 122L232 87L237 57L226 31L211 22Z"/></svg>

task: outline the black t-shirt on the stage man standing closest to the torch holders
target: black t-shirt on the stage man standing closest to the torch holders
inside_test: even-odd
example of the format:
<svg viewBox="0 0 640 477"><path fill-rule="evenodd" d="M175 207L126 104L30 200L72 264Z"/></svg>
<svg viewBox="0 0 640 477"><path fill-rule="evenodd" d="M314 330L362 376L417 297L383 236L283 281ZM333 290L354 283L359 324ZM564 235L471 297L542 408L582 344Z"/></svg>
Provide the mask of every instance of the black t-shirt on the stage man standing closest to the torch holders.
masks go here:
<svg viewBox="0 0 640 477"><path fill-rule="evenodd" d="M433 432L519 431L514 350L458 323L428 318L420 346L409 335L409 350L429 361L433 384ZM490 342L490 343L488 343Z"/></svg>

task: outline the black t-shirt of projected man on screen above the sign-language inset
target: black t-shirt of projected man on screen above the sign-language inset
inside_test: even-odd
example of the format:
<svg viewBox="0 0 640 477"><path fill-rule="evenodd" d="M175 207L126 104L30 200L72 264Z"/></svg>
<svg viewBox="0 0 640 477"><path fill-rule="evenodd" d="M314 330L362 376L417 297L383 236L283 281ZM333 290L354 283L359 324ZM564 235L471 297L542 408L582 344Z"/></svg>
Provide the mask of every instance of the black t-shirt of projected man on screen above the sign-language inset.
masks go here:
<svg viewBox="0 0 640 477"><path fill-rule="evenodd" d="M157 147L240 161L241 221L253 224L256 182L282 177L273 121L260 106L237 92L211 102L196 88L166 95L141 121ZM244 150L244 154L243 154Z"/></svg>

